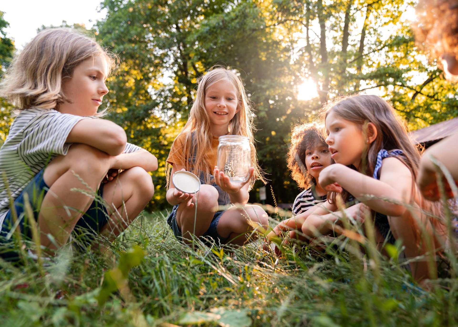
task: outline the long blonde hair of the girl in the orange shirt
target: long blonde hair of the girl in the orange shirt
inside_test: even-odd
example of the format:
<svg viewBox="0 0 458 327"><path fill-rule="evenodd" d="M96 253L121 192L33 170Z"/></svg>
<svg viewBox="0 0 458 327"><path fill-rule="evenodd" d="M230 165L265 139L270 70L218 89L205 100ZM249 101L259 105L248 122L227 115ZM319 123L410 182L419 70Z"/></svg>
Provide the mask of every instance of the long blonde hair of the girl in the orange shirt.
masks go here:
<svg viewBox="0 0 458 327"><path fill-rule="evenodd" d="M212 147L212 130L210 126L210 118L208 117L207 110L205 110L205 94L209 87L219 81L227 80L231 82L237 91L237 109L239 111L234 115L234 118L229 122L229 134L230 135L241 135L246 136L250 139L250 143L254 146L254 132L256 131L253 124L253 111L249 104L249 100L245 93L245 87L243 87L240 77L237 76L234 71L231 71L229 67L215 66L211 68L207 73L201 76L197 82L196 98L192 104L191 111L189 113L188 121L186 122L183 130L180 131L176 139L179 136L184 135L183 147L175 149L175 151L183 153L184 168L190 171L194 168L196 171L207 171L209 166L207 151ZM175 139L175 140L176 140ZM191 139L193 142L191 142ZM191 163L188 159L190 156L196 153L196 161ZM170 155L173 155L172 153ZM266 183L264 179L264 172L259 167L256 154L255 162L252 163L255 171L255 179L261 180ZM171 166L167 163L167 185L169 185L171 173ZM209 183L209 174L205 175L206 183ZM251 187L254 184L254 180L250 181Z"/></svg>

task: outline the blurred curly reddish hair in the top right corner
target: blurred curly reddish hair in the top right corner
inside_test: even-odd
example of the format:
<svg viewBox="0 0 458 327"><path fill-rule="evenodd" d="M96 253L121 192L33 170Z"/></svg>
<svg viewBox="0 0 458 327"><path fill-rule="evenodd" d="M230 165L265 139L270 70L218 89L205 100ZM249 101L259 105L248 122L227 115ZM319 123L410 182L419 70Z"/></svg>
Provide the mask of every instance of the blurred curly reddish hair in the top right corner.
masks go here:
<svg viewBox="0 0 458 327"><path fill-rule="evenodd" d="M416 14L412 23L416 43L443 69L442 54L458 58L458 0L420 0Z"/></svg>

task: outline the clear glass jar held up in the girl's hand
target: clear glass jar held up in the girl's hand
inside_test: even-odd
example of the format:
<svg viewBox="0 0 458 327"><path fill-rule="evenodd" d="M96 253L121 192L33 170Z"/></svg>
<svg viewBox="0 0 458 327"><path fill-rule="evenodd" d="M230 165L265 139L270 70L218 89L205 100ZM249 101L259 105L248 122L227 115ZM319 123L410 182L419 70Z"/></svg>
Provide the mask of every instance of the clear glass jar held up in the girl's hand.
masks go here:
<svg viewBox="0 0 458 327"><path fill-rule="evenodd" d="M224 171L233 183L246 182L251 167L250 139L240 135L224 135L219 136L218 140L219 171Z"/></svg>

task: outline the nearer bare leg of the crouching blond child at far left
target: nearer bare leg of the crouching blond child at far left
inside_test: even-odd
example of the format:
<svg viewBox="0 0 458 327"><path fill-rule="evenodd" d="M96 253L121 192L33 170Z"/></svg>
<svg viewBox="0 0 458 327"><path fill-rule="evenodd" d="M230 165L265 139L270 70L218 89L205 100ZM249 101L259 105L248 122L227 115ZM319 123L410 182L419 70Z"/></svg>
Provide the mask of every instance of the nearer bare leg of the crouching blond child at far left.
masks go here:
<svg viewBox="0 0 458 327"><path fill-rule="evenodd" d="M94 147L74 144L67 155L56 157L45 168L43 178L49 186L49 191L44 196L38 214L42 245L56 249L47 234L54 237L57 247L67 242L71 231L82 214L87 211L93 201L92 195L110 168L110 158L108 154Z"/></svg>

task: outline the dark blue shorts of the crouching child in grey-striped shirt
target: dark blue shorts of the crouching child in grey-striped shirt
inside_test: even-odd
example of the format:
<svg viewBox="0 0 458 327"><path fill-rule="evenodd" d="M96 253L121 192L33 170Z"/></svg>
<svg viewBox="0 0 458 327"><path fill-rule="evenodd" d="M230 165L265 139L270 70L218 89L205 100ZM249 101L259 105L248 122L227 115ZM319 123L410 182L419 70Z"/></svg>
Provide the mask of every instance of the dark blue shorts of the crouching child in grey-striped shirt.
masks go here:
<svg viewBox="0 0 458 327"><path fill-rule="evenodd" d="M27 184L27 186L22 190L21 194L14 201L14 207L16 209L17 217L19 218L19 223L17 229L21 231L21 235L24 240L32 240L32 230L27 219L24 219L24 195L27 194L29 203L33 210L33 216L35 221L38 220L38 213L40 212L41 204L43 202L44 196L49 190L49 186L43 180L42 169L35 177ZM103 196L104 184L100 185L98 190L98 195ZM76 223L72 237L76 240L81 241L82 243L89 245L94 239L94 235L98 234L103 226L108 222L109 214L104 204L94 200L86 213ZM11 244L11 240L14 239L14 234L11 236L10 240L6 240L6 236L13 228L13 215L11 214L11 209L6 214L5 220L1 226L0 230L0 245L5 245L6 243ZM10 250L11 247L1 246L0 256L6 260L17 260L18 253L17 251Z"/></svg>

